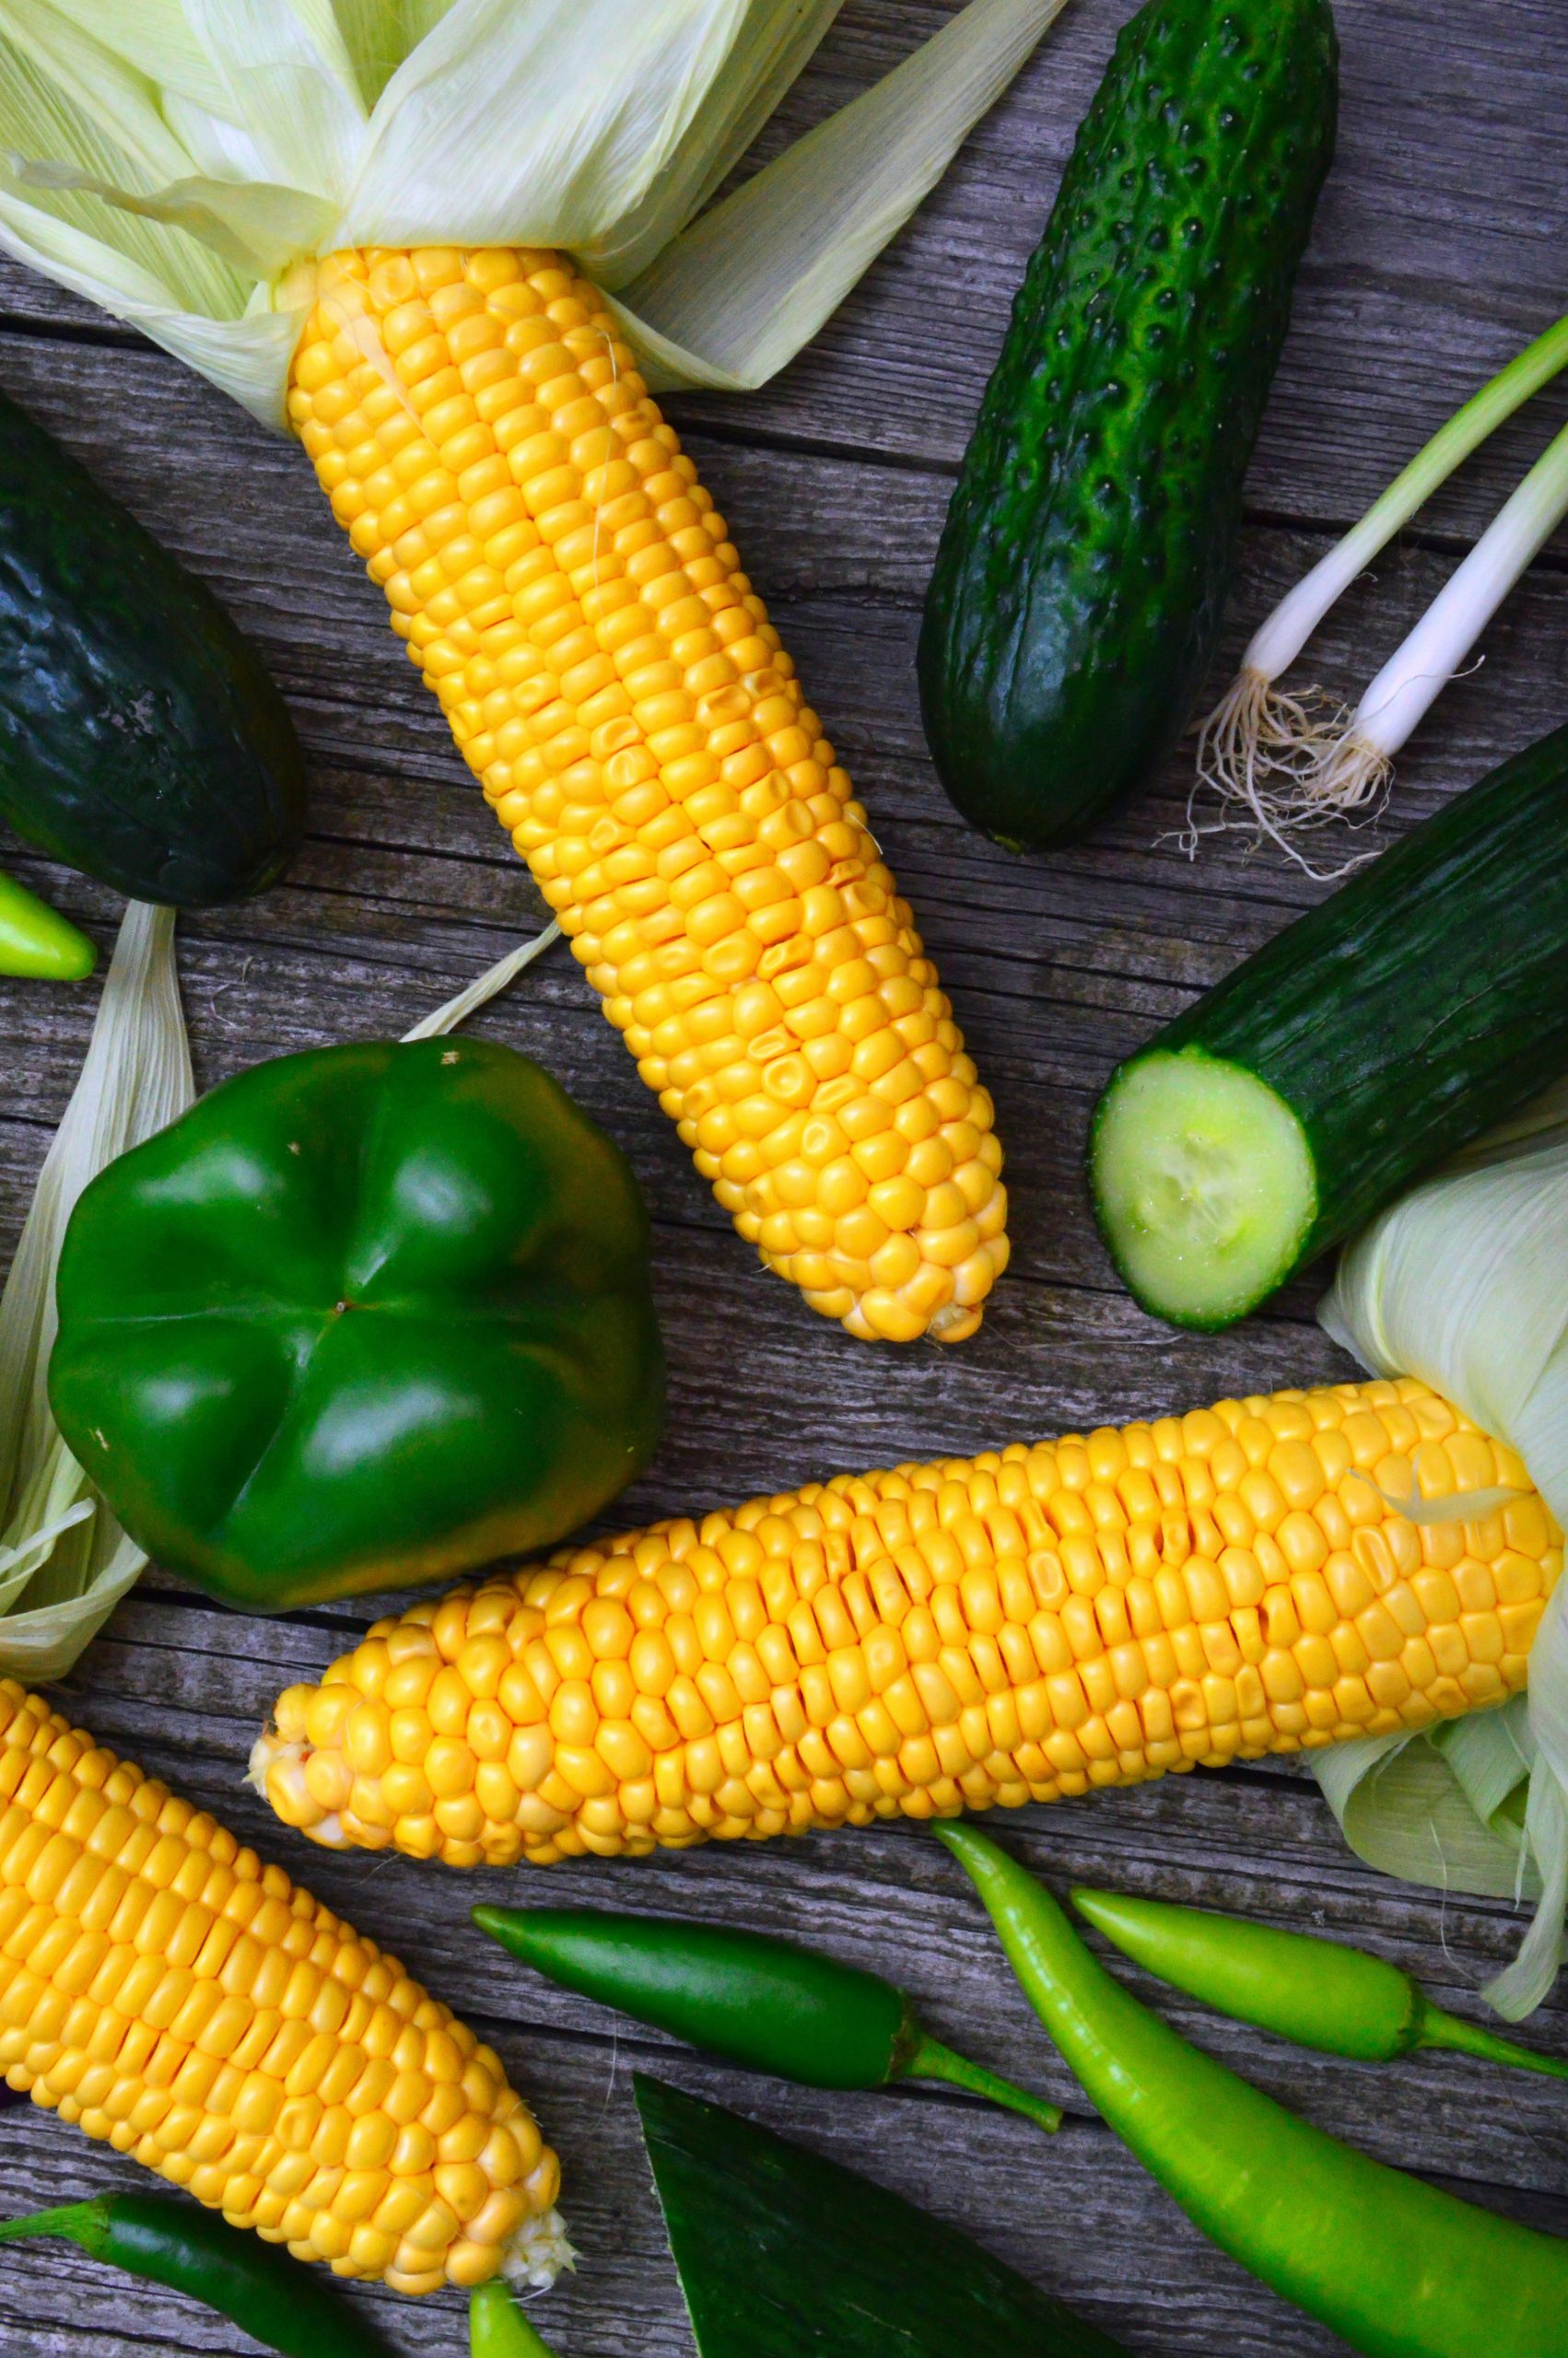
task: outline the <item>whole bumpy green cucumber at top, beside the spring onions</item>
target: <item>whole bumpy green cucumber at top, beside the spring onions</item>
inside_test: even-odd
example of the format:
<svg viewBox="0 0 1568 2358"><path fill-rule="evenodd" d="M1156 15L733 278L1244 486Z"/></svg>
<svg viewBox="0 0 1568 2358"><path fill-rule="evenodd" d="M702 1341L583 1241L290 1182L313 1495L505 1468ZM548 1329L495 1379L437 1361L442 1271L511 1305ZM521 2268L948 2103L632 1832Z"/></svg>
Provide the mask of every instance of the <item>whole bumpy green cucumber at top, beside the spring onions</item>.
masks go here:
<svg viewBox="0 0 1568 2358"><path fill-rule="evenodd" d="M920 634L938 776L1012 851L1165 759L1335 151L1327 0L1148 0L1028 266Z"/></svg>

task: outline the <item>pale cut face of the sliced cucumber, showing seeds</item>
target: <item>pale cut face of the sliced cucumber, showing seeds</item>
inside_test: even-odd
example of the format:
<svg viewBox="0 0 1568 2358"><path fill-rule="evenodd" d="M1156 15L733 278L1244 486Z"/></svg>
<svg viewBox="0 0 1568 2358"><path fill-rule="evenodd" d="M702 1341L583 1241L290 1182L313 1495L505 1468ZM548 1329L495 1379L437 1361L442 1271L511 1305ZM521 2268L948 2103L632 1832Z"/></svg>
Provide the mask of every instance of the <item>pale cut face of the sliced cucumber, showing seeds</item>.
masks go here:
<svg viewBox="0 0 1568 2358"><path fill-rule="evenodd" d="M1153 1049L1115 1073L1089 1177L1129 1292L1172 1325L1243 1318L1290 1276L1318 1217L1292 1106L1200 1047Z"/></svg>

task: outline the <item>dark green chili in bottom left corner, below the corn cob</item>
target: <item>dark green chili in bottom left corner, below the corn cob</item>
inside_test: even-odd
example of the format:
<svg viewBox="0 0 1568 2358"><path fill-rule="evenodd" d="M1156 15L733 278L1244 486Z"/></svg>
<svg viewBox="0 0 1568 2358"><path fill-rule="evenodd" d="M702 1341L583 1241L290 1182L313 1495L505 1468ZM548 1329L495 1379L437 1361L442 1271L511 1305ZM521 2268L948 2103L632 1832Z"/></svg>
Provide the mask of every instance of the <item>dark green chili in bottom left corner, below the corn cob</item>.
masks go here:
<svg viewBox="0 0 1568 2358"><path fill-rule="evenodd" d="M127 2275L189 2292L283 2358L391 2358L330 2278L177 2195L94 2195L0 2226L0 2242L21 2235L64 2235Z"/></svg>

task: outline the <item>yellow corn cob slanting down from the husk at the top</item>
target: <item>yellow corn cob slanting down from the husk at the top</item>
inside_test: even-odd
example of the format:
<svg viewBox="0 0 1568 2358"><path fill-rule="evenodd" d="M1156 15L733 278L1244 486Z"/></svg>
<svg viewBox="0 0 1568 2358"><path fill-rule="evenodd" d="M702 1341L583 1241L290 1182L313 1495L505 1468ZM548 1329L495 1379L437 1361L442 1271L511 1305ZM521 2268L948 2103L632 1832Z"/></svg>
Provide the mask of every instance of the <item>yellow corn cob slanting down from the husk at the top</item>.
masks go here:
<svg viewBox="0 0 1568 2358"><path fill-rule="evenodd" d="M971 1335L990 1099L601 297L547 252L332 255L290 417L740 1236L851 1335Z"/></svg>

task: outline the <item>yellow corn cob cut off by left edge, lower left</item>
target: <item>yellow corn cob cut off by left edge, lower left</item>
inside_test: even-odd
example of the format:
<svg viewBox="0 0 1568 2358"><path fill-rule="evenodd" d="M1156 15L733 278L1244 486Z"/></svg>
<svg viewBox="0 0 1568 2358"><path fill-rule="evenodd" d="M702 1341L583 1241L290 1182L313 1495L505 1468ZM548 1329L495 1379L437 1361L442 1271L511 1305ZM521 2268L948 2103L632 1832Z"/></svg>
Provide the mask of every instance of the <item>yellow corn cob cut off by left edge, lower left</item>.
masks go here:
<svg viewBox="0 0 1568 2358"><path fill-rule="evenodd" d="M394 1957L9 1679L0 1809L14 2089L337 2275L554 2275L554 2153Z"/></svg>

